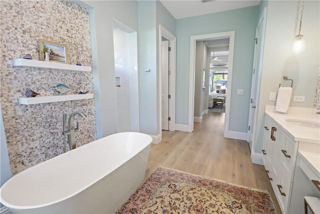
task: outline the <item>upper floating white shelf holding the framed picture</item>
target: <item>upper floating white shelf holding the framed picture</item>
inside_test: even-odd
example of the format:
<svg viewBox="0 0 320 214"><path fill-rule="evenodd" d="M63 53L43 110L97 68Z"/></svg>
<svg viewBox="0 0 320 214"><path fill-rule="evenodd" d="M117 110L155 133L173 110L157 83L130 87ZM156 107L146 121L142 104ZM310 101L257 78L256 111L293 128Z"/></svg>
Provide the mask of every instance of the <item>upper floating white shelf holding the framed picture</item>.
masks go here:
<svg viewBox="0 0 320 214"><path fill-rule="evenodd" d="M38 60L15 59L12 60L13 67L33 67L33 68L50 68L69 71L91 71L91 67L69 65L64 63L53 63Z"/></svg>

